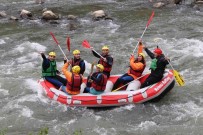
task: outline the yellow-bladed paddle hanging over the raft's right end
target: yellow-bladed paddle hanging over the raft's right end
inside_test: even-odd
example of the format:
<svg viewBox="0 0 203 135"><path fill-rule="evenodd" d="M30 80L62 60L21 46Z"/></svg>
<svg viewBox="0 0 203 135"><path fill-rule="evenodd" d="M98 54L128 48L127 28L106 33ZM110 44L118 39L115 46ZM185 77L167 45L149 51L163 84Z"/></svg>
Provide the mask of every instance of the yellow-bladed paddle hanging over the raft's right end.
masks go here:
<svg viewBox="0 0 203 135"><path fill-rule="evenodd" d="M159 38L154 39L154 42L158 42ZM162 49L163 51L163 49ZM176 82L178 83L179 86L184 86L185 85L185 81L182 77L182 75L179 74L179 72L177 70L175 70L172 66L172 64L170 63L170 61L167 59L169 65L171 66L172 70L173 70L173 76L175 77Z"/></svg>

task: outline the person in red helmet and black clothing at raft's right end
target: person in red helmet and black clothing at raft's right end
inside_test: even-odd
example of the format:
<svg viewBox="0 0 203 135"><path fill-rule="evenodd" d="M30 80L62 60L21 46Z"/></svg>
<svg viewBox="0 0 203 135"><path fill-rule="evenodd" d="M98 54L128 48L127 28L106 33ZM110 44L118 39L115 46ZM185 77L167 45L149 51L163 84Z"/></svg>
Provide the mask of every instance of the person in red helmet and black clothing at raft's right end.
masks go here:
<svg viewBox="0 0 203 135"><path fill-rule="evenodd" d="M162 54L162 50L158 46L154 49L153 53L147 47L143 46L143 48L152 59L152 62L150 65L151 73L141 85L141 88L159 82L163 78L167 64L169 64L169 59Z"/></svg>

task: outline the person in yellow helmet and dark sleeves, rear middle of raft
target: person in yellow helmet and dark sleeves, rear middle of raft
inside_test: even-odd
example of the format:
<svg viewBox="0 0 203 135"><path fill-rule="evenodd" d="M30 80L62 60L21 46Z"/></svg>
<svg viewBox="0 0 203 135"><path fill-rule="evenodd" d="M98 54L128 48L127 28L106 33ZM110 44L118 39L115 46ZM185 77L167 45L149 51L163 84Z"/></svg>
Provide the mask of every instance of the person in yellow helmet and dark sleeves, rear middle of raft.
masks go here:
<svg viewBox="0 0 203 135"><path fill-rule="evenodd" d="M98 61L98 64L101 64L104 66L103 73L106 74L107 77L109 78L110 72L111 72L112 66L113 66L113 57L111 55L109 55L109 47L108 46L102 47L101 56L103 58L94 51L93 47L91 47L91 50L95 57L100 58Z"/></svg>

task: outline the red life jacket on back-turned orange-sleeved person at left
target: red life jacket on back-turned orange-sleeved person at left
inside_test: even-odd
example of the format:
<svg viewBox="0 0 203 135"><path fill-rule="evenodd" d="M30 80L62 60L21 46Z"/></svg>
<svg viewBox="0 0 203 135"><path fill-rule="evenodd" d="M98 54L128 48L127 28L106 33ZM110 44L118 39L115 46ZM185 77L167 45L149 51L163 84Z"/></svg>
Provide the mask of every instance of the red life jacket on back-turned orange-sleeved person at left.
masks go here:
<svg viewBox="0 0 203 135"><path fill-rule="evenodd" d="M67 82L66 90L68 93L72 95L79 94L81 84L82 84L82 76L72 74L71 82Z"/></svg>

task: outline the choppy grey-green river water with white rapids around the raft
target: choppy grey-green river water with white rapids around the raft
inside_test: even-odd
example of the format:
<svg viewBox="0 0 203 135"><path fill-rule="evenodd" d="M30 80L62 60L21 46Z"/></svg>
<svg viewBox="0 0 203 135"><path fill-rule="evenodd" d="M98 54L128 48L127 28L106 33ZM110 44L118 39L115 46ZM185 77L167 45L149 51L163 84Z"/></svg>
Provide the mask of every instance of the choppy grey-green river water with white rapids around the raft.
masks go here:
<svg viewBox="0 0 203 135"><path fill-rule="evenodd" d="M69 108L43 94L37 80L41 76L39 52L57 52L58 67L63 55L49 32L52 31L67 53L66 37L71 50L81 50L82 58L91 63L90 50L82 47L87 39L98 52L109 45L114 57L112 74L123 74L129 56L137 44L152 13L147 1L131 0L0 0L0 11L19 16L30 10L34 20L14 22L0 19L0 131L8 135L37 134L48 127L49 135L201 135L203 133L203 12L183 4L155 9L155 16L144 37L153 49L159 45L171 59L174 69L183 75L184 87L177 84L157 103L126 105L116 108ZM59 24L41 21L47 7L61 14ZM103 9L114 20L92 21L91 11ZM78 16L78 28L70 31L67 16ZM157 41L157 42L155 42ZM68 57L72 57L70 54ZM147 57L148 72L150 58ZM168 66L168 68L171 68ZM89 67L87 67L87 75Z"/></svg>

